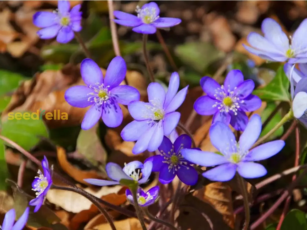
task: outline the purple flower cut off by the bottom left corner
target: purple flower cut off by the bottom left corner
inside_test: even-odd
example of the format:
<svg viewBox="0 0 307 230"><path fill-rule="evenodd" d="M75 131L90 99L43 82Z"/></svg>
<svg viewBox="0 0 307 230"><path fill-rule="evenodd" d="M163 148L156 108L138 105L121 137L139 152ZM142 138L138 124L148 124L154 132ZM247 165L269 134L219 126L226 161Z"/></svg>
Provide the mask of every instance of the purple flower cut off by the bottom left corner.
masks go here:
<svg viewBox="0 0 307 230"><path fill-rule="evenodd" d="M15 209L11 209L5 214L5 217L2 223L2 228L0 226L0 229L2 230L22 230L25 227L25 224L27 223L28 217L29 217L29 207L26 207L24 213L21 215L19 220L17 220L16 223L14 224L16 213L15 213Z"/></svg>

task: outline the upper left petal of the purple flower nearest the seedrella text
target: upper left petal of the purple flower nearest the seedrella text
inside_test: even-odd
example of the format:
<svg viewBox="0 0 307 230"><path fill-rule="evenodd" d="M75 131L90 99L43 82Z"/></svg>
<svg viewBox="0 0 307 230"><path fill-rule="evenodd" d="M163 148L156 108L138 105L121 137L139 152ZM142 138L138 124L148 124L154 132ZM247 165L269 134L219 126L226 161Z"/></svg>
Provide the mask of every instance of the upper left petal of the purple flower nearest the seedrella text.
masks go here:
<svg viewBox="0 0 307 230"><path fill-rule="evenodd" d="M103 83L103 75L99 66L89 58L84 59L80 65L82 79L87 86Z"/></svg>

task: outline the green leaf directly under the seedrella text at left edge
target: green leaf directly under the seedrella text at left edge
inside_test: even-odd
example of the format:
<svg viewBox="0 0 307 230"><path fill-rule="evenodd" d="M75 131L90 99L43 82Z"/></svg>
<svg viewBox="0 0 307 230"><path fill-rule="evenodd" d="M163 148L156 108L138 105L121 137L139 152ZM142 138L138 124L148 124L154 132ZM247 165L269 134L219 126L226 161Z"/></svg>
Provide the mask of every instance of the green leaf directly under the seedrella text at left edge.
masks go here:
<svg viewBox="0 0 307 230"><path fill-rule="evenodd" d="M20 120L17 120L13 114L16 115L16 113L9 113L9 116L3 121L1 135L16 142L27 151L37 145L41 137L48 137L47 127L38 116L37 119L30 117L29 120L25 120L23 117L18 117Z"/></svg>

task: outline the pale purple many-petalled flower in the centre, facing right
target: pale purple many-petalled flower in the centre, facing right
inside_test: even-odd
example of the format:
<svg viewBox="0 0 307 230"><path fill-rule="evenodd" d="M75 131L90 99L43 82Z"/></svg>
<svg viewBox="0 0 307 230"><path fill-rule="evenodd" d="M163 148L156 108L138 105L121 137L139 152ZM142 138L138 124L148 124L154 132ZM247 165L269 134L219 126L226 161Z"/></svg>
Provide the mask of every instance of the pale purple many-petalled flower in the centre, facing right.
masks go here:
<svg viewBox="0 0 307 230"><path fill-rule="evenodd" d="M180 90L179 75L174 72L165 94L163 87L152 82L147 88L149 102L131 102L128 110L135 121L126 125L121 136L126 141L137 141L132 149L139 154L146 149L153 152L161 145L163 136L168 136L176 128L180 113L174 112L185 100L188 86Z"/></svg>

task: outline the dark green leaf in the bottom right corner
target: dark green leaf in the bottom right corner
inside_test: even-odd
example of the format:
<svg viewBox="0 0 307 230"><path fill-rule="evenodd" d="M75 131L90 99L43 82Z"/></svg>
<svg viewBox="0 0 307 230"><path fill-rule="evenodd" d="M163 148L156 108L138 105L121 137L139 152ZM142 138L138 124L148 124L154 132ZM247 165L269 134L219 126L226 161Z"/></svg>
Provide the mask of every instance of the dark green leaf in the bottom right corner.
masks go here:
<svg viewBox="0 0 307 230"><path fill-rule="evenodd" d="M300 229L307 230L305 213L298 209L292 209L282 222L280 230Z"/></svg>

